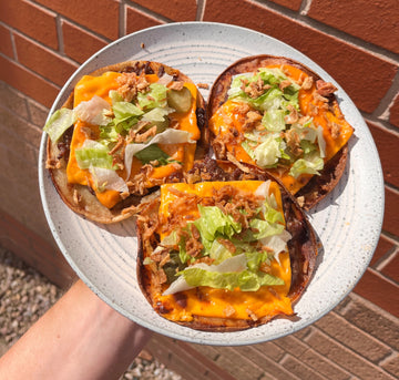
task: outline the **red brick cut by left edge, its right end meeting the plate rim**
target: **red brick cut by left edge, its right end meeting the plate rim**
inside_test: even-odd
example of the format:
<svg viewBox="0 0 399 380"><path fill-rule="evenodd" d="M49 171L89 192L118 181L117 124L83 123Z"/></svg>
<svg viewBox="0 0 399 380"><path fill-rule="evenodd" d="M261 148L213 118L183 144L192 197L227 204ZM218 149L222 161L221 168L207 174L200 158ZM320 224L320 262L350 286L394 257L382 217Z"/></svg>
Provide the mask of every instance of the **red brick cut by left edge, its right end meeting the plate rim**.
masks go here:
<svg viewBox="0 0 399 380"><path fill-rule="evenodd" d="M60 89L20 64L0 57L1 80L50 107Z"/></svg>

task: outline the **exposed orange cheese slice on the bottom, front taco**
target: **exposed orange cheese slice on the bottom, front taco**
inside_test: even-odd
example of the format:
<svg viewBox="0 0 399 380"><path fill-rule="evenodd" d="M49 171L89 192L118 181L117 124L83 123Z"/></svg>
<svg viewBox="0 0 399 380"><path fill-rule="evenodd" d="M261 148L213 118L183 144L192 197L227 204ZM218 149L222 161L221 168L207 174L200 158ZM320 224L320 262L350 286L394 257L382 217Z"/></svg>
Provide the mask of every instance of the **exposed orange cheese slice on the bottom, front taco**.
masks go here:
<svg viewBox="0 0 399 380"><path fill-rule="evenodd" d="M234 186L243 193L254 194L263 182L244 181L244 182L205 182L198 184L167 184L161 186L161 206L160 219L170 215L170 205L176 199L176 194L171 188L187 194L196 194L201 197L212 197L213 189L219 189L226 185ZM274 194L277 201L277 209L283 214L282 197L278 185L270 183L269 194ZM194 207L194 208L193 208ZM196 206L181 209L180 215L190 219L198 217ZM276 315L291 315L293 308L289 297L287 297L290 283L291 269L288 251L279 254L279 263L272 260L272 275L284 280L280 286L263 286L257 291L233 291L226 289L214 289L211 287L198 287L196 289L180 292L186 297L186 302L182 306L181 297L175 295L163 296L154 295L154 306L163 306L166 314L163 317L173 321L191 321L194 316L217 317L250 320L256 318L273 317ZM198 295L201 294L201 295Z"/></svg>

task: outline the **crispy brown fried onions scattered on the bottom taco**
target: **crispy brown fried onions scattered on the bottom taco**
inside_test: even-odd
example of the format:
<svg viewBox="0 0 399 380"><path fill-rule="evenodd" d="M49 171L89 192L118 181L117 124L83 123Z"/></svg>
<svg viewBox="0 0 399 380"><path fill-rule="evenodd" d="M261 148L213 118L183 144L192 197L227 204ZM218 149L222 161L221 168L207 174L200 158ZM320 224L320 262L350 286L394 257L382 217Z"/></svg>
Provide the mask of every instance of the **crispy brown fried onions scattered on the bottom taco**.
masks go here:
<svg viewBox="0 0 399 380"><path fill-rule="evenodd" d="M175 199L168 205L167 216L157 213L144 213L139 216L143 248L151 253L152 270L155 283L160 287L167 281L164 267L171 261L171 253L178 251L180 244L184 244L186 254L192 257L191 264L205 263L211 265L214 261L208 256L202 256L204 246L200 239L200 232L193 223L188 223L193 222L194 217L182 217L182 209L187 210L185 215L191 215L191 212L197 209L198 204L216 206L223 213L231 215L234 220L241 223L243 233L245 233L249 228L249 220L258 213L257 207L262 198L228 185L214 189L212 196L206 197L181 192L174 187L168 191L175 195ZM173 245L163 245L162 242L156 242L157 232L165 236L174 233L176 235L175 243ZM236 251L236 247L228 239L218 238L218 243L224 245L232 254ZM265 267L263 270L267 271L268 268Z"/></svg>

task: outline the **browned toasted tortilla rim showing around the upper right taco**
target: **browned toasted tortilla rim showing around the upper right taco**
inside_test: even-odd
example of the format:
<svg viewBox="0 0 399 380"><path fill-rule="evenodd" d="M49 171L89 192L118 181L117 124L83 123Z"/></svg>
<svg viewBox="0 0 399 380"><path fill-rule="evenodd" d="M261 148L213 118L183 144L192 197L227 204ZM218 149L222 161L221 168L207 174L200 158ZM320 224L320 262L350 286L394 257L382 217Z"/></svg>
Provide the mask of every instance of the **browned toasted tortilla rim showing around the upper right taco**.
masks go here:
<svg viewBox="0 0 399 380"><path fill-rule="evenodd" d="M263 55L247 57L241 59L237 62L229 65L223 73L221 73L221 75L214 82L211 89L208 107L207 107L209 120L218 111L218 109L227 101L228 97L227 91L229 90L234 75L255 72L257 69L265 66L274 66L274 68L293 66L296 70L300 70L300 72L303 72L304 75L307 75L313 79L314 90L311 91L315 92L316 92L315 83L317 81L321 81L320 76L317 73L315 73L304 64L284 57L273 57L273 55L263 54ZM289 73L287 75L290 76ZM329 192L332 191L332 188L337 185L337 183L341 178L348 160L347 140L349 140L348 136L351 135L354 130L345 121L335 94L329 93L328 95L325 96L325 99L326 99L326 107L328 107L326 112L328 112L332 117L335 117L335 121L339 120L339 123L341 124L340 131L344 132L342 133L338 132L338 134L340 134L338 138L345 137L346 140L344 143L340 143L341 146L335 153L335 155L330 157L328 162L325 162L325 167L320 172L320 175L314 175L310 181L307 179L309 182L307 182L305 186L301 185L303 187L300 189L298 189L297 187L294 188L294 186L293 188L290 188L290 184L285 183L285 186L288 188L288 191L291 194L294 194L297 197L300 205L305 209L310 209L317 203L319 203ZM242 160L234 160L235 158L233 152L234 147L229 151L229 154L226 154L226 151L221 150L219 145L215 144L215 138L216 135L212 131L209 131L209 141L211 144L213 145L216 158L231 160L232 162L235 163L239 161L242 164L245 165L245 162L243 162ZM280 168L277 170L264 168L263 171L267 171L273 176L282 179Z"/></svg>

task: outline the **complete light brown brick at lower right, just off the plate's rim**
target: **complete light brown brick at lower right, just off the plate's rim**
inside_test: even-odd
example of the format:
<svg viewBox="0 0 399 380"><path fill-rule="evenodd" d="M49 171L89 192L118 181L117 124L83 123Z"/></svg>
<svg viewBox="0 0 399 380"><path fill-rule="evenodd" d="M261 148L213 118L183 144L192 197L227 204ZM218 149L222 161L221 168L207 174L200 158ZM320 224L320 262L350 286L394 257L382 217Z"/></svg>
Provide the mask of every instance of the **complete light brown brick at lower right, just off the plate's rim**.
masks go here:
<svg viewBox="0 0 399 380"><path fill-rule="evenodd" d="M380 343L377 339L350 325L342 317L329 312L326 317L316 322L316 326L335 340L341 342L364 358L378 363L391 349Z"/></svg>

